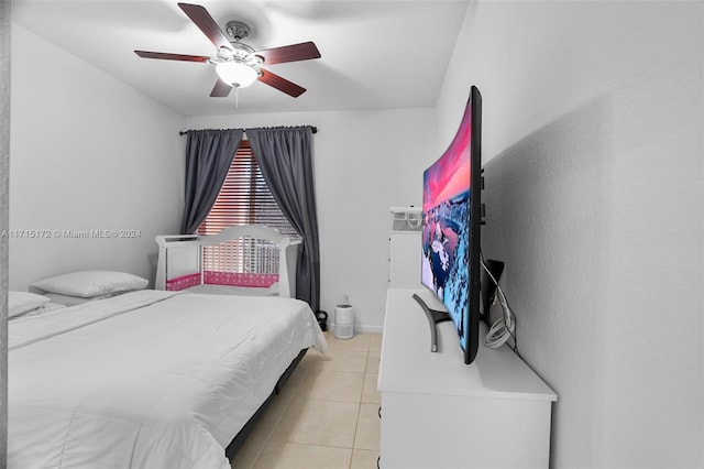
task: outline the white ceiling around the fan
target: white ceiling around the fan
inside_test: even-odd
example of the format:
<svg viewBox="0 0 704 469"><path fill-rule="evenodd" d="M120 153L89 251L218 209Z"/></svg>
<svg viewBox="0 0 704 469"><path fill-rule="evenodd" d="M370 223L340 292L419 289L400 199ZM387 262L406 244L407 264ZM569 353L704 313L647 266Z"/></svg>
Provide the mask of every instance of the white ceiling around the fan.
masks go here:
<svg viewBox="0 0 704 469"><path fill-rule="evenodd" d="M211 64L140 58L134 50L215 55L170 0L13 0L13 20L186 116L432 107L469 0L189 0L224 30L254 33L255 50L314 41L321 58L266 67L307 92L292 98L255 83L209 96ZM238 107L235 108L235 99Z"/></svg>

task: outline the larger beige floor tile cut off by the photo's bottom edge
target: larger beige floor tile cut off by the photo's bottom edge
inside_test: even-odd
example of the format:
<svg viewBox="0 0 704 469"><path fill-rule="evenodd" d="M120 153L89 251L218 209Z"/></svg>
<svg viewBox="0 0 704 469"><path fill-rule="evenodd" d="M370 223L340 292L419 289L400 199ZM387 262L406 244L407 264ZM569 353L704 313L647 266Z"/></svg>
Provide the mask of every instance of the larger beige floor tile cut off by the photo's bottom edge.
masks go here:
<svg viewBox="0 0 704 469"><path fill-rule="evenodd" d="M350 448L271 441L260 456L255 469L348 469Z"/></svg>

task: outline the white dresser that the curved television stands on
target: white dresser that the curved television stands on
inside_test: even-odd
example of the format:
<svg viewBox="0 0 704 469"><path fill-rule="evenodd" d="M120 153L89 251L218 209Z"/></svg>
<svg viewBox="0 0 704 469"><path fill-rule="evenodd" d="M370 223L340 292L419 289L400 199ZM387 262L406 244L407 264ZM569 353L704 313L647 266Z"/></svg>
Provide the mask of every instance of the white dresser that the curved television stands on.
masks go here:
<svg viewBox="0 0 704 469"><path fill-rule="evenodd" d="M438 325L439 351L431 352L414 293L429 295L387 292L381 468L547 468L554 392L506 347L480 345L464 364L452 323Z"/></svg>

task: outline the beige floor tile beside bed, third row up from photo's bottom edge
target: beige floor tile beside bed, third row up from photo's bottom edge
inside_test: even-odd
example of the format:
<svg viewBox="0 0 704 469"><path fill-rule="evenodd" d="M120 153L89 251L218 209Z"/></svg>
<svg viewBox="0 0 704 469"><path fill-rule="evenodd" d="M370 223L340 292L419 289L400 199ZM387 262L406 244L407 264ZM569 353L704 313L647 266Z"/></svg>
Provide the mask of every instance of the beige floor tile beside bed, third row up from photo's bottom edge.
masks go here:
<svg viewBox="0 0 704 469"><path fill-rule="evenodd" d="M364 373L326 369L311 370L298 389L308 399L360 402Z"/></svg>

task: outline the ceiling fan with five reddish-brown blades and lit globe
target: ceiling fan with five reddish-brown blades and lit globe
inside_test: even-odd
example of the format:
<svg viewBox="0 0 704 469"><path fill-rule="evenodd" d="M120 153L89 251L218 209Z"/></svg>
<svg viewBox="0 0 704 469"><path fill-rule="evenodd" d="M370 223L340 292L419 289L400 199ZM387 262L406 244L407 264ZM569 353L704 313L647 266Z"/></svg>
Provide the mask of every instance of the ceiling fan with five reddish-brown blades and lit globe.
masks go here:
<svg viewBox="0 0 704 469"><path fill-rule="evenodd" d="M262 68L262 65L320 58L320 52L318 47L316 47L316 44L312 42L304 42L300 44L254 51L242 42L251 32L248 24L240 21L229 22L226 25L226 31L231 37L229 39L204 7L191 3L178 3L178 7L217 47L216 56L208 57L205 55L134 51L136 55L144 58L216 64L216 72L219 78L212 91L210 91L210 96L212 97L227 97L232 88L244 88L255 80L262 81L294 98L306 92L306 88Z"/></svg>

